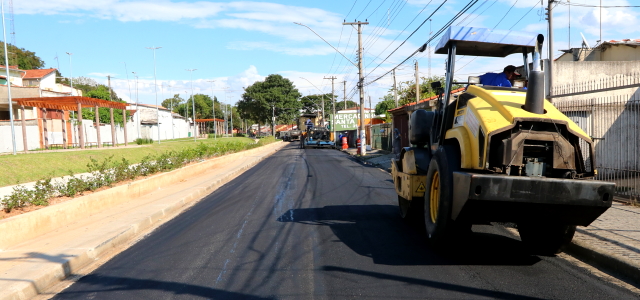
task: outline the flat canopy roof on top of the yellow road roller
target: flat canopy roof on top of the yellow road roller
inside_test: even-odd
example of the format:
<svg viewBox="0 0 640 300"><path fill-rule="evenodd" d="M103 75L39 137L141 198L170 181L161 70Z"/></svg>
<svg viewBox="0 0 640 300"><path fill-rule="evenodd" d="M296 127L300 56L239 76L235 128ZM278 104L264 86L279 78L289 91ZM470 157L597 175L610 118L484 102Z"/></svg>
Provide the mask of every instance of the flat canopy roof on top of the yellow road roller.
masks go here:
<svg viewBox="0 0 640 300"><path fill-rule="evenodd" d="M457 55L505 57L513 53L533 52L537 33L489 28L451 26L444 33L435 53L447 54L452 41Z"/></svg>

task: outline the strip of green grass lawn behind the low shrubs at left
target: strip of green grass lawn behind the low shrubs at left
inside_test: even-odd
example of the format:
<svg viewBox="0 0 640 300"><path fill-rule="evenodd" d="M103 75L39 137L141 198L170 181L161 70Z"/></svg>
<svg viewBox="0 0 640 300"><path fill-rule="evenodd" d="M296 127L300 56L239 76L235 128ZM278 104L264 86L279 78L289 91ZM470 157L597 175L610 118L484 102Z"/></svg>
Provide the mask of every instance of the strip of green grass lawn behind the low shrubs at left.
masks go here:
<svg viewBox="0 0 640 300"><path fill-rule="evenodd" d="M87 164L91 161L91 158L102 162L105 158L113 155L113 159L116 161L120 161L124 157L131 163L138 163L147 155L155 156L166 151L195 147L199 143L252 144L254 141L242 137L219 138L217 140L199 139L197 142L194 142L193 139L179 139L162 141L159 145L154 143L136 148L113 149L109 147L104 150L91 149L2 155L0 156L0 170L3 170L3 172L0 175L0 187L36 181L47 176L61 177L71 173L88 172Z"/></svg>

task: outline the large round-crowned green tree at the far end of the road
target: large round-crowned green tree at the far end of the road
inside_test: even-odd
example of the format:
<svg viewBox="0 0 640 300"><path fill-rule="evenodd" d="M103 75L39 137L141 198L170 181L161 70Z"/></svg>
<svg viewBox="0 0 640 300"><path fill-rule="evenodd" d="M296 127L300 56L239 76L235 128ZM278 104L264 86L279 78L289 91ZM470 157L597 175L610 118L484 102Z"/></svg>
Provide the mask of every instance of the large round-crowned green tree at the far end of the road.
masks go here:
<svg viewBox="0 0 640 300"><path fill-rule="evenodd" d="M256 81L245 88L238 110L243 119L271 122L272 115L277 121L288 121L299 114L302 105L301 94L291 80L282 75L271 74L264 81ZM272 123L272 126L275 124Z"/></svg>

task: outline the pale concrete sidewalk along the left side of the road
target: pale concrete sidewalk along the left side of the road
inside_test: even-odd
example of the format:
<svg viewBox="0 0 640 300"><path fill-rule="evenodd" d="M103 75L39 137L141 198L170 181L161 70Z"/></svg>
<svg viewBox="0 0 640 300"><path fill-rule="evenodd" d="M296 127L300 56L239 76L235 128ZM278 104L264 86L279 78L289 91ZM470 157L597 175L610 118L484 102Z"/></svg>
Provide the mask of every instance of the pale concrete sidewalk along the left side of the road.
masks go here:
<svg viewBox="0 0 640 300"><path fill-rule="evenodd" d="M98 213L80 213L74 221L56 226L46 234L0 249L0 300L30 299L42 293L91 262L109 255L110 250L122 247L145 230L171 219L284 145L273 143L143 179L138 184L153 185L151 193L105 207ZM175 175L181 174L181 170L188 174L203 166L206 171L196 176ZM117 188L119 187L109 190ZM102 192L93 195L100 193ZM83 198L78 197L35 212L64 210L62 205L71 207L78 202L81 207L86 207L82 204L85 201ZM71 203L73 201L77 202ZM54 215L61 213L65 212L60 211ZM15 222L12 219L5 219L0 223Z"/></svg>

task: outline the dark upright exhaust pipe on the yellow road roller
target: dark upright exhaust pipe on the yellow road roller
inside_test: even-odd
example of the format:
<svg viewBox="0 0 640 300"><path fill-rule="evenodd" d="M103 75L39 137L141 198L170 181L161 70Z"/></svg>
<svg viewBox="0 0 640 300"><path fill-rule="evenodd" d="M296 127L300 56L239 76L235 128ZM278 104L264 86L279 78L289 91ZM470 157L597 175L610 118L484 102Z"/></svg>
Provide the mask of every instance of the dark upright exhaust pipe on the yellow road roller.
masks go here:
<svg viewBox="0 0 640 300"><path fill-rule="evenodd" d="M533 51L533 68L529 72L527 97L524 102L524 110L534 114L544 114L544 72L540 60L543 42L544 36L538 34L536 47Z"/></svg>

